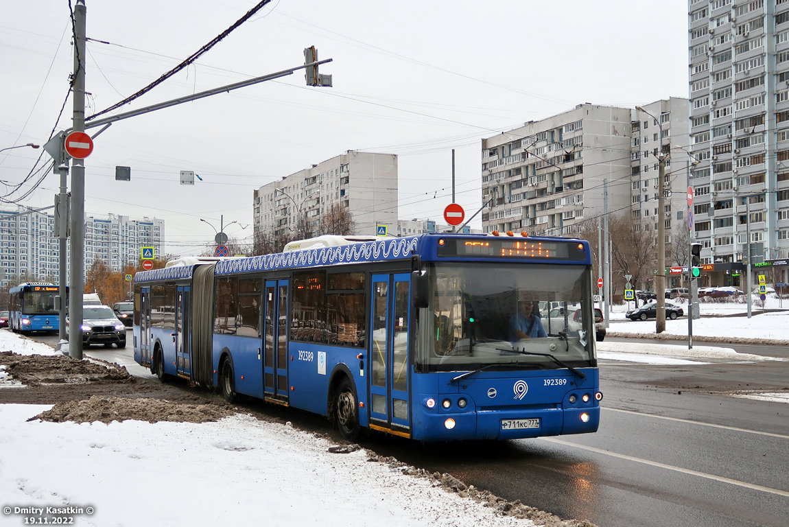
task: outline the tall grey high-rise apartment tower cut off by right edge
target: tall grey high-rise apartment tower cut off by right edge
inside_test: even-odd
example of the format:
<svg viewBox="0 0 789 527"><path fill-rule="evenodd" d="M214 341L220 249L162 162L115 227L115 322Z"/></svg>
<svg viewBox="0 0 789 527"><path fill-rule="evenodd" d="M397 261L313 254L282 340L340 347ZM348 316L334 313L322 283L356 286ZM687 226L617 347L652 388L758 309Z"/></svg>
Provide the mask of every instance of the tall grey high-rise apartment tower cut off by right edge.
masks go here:
<svg viewBox="0 0 789 527"><path fill-rule="evenodd" d="M732 275L716 282L741 286L749 237L752 263L789 256L789 1L689 8L695 235L702 263Z"/></svg>

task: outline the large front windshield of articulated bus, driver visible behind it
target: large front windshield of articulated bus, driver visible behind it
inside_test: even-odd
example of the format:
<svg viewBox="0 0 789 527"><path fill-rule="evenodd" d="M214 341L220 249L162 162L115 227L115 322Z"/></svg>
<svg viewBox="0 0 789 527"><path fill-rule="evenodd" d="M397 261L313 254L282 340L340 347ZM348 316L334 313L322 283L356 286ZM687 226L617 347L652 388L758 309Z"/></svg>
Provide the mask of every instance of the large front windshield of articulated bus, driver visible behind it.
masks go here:
<svg viewBox="0 0 789 527"><path fill-rule="evenodd" d="M426 371L596 365L589 267L431 264L417 365ZM540 353L540 355L533 354Z"/></svg>

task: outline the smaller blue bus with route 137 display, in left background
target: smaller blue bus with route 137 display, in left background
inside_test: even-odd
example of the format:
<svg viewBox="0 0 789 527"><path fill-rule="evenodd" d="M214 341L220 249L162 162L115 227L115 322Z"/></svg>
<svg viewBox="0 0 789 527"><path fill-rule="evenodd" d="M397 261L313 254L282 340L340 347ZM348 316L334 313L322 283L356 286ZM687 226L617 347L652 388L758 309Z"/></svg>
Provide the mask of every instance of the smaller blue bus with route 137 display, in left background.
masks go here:
<svg viewBox="0 0 789 527"><path fill-rule="evenodd" d="M9 290L8 325L15 333L60 329L55 297L59 287L49 282L25 282ZM66 288L66 296L69 289Z"/></svg>

